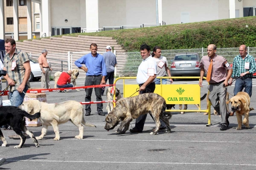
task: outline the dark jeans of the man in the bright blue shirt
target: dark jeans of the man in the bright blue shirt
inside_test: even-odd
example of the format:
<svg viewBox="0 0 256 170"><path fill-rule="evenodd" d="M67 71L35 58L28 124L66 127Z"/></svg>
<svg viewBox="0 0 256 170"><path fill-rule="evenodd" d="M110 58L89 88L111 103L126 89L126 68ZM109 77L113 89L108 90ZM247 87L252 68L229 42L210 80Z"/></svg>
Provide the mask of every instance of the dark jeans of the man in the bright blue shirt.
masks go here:
<svg viewBox="0 0 256 170"><path fill-rule="evenodd" d="M97 77L93 77L93 76L86 76L85 78L85 82L84 82L84 86L87 86L87 85L100 85L101 83L101 80L102 80L102 76L97 76ZM102 101L102 97L101 97L101 90L102 88L94 88L94 91L95 91L95 95L96 95L96 101L99 102L99 101ZM85 92L86 92L86 96L85 96L85 102L90 102L91 101L91 96L92 96L92 93L93 93L93 88L86 88L85 89ZM103 109L103 103L97 103L97 112L100 113L100 112L103 112L102 109ZM85 111L86 112L91 112L91 108L90 108L90 104L88 105L85 105Z"/></svg>

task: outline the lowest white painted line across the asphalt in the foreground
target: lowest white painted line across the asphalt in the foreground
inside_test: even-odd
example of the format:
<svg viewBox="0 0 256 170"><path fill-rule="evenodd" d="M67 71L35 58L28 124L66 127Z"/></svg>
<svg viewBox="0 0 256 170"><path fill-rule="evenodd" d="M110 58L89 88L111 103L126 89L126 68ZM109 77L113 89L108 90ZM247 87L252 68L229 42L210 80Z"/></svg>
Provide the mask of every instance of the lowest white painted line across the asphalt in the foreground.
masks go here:
<svg viewBox="0 0 256 170"><path fill-rule="evenodd" d="M215 163L186 163L186 162L124 162L124 161L47 161L47 160L14 160L7 159L8 161L30 161L30 162L73 162L73 163L112 163L112 164L192 164L192 165L236 165L236 166L256 166L256 164L215 164Z"/></svg>

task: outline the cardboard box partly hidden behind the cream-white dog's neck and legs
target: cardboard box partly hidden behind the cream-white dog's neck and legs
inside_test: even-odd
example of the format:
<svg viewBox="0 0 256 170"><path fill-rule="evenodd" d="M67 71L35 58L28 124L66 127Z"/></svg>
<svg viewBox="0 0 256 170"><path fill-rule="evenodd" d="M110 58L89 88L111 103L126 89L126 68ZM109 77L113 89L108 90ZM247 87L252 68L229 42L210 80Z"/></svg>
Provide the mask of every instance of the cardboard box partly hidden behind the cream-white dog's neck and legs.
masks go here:
<svg viewBox="0 0 256 170"><path fill-rule="evenodd" d="M45 93L26 93L24 97L24 101L27 100L39 100L40 102L46 102L46 94ZM42 123L39 119L33 119L30 121L30 119L26 118L26 126L29 127L38 127L42 126Z"/></svg>

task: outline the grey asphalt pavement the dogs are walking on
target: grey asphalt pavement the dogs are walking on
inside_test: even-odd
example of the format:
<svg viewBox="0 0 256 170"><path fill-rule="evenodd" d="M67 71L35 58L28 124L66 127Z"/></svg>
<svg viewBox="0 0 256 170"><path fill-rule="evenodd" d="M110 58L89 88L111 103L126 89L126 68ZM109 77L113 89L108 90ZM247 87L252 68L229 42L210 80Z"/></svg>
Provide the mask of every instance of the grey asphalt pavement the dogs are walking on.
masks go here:
<svg viewBox="0 0 256 170"><path fill-rule="evenodd" d="M254 83L255 82L255 83ZM134 80L125 80L127 84L136 84ZM175 84L197 84L198 80L175 80ZM52 88L54 81L51 82ZM77 85L84 85L84 78L77 79ZM117 81L117 87L121 92L122 81ZM207 92L207 82L203 83L201 96ZM256 108L254 98L256 79L253 79L253 97L251 107ZM40 82L31 82L31 86L40 87ZM3 82L4 89L6 83ZM170 86L171 87L171 86ZM228 87L233 94L233 86ZM48 103L58 103L66 100L84 102L85 91L69 91L67 93L47 92ZM232 95L230 95L232 97ZM7 96L3 96L7 99ZM103 96L106 100L106 96ZM93 91L92 101L96 101ZM104 112L106 111L106 103ZM176 105L178 108L178 106ZM175 107L175 108L176 108ZM21 149L14 146L20 140L9 139L14 134L12 130L3 130L7 147L0 148L0 158L6 161L0 165L0 170L236 170L256 169L256 111L250 112L250 129L236 130L236 116L230 116L230 126L226 131L220 129L220 116L213 116L211 109L212 126L207 127L208 116L203 113L186 112L180 114L174 112L170 119L172 133L159 132L151 136L150 132L155 127L151 116L147 116L142 133L116 134L115 129L104 129L105 116L99 116L96 112L96 104L91 105L91 116L85 116L85 120L97 127L85 127L84 139L75 139L79 134L78 128L71 122L59 126L60 141L54 141L55 133L52 127L48 128L47 136L39 140L39 147L35 147L28 137ZM176 109L177 109L176 108ZM195 105L188 105L188 109L195 109ZM206 109L206 100L201 101L201 108ZM130 128L134 127L135 120ZM29 130L39 136L42 127L28 127ZM1 142L0 142L1 144Z"/></svg>

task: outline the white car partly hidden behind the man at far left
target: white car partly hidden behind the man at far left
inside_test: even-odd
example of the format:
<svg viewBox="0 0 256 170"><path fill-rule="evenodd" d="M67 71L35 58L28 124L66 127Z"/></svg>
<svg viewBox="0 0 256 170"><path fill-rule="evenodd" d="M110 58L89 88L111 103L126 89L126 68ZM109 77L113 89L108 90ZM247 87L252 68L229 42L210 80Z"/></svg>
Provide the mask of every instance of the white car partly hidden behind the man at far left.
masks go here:
<svg viewBox="0 0 256 170"><path fill-rule="evenodd" d="M29 57L31 73L29 76L29 82L38 81L41 79L41 68L37 59Z"/></svg>

